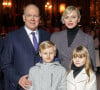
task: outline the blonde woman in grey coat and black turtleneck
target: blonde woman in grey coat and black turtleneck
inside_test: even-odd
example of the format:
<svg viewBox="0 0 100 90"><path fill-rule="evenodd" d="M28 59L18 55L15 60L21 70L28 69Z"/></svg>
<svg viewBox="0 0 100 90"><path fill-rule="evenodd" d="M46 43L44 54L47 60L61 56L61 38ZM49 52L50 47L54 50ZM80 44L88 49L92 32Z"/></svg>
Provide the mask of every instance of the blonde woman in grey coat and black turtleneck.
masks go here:
<svg viewBox="0 0 100 90"><path fill-rule="evenodd" d="M66 29L52 34L51 41L56 44L58 57L66 70L69 69L72 50L79 45L85 45L89 49L93 70L96 71L94 41L91 36L79 29L80 19L79 9L75 6L68 6L61 18Z"/></svg>

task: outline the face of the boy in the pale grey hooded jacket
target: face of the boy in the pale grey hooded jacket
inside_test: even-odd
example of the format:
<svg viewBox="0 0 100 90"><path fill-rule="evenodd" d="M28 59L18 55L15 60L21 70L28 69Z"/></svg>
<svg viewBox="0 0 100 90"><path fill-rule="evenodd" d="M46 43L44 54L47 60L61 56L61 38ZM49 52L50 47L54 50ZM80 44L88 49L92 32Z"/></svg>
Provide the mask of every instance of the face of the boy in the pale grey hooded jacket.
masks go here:
<svg viewBox="0 0 100 90"><path fill-rule="evenodd" d="M41 52L39 52L39 54L43 59L43 63L50 63L54 60L56 51L54 50L54 47L50 47L50 48L41 50Z"/></svg>

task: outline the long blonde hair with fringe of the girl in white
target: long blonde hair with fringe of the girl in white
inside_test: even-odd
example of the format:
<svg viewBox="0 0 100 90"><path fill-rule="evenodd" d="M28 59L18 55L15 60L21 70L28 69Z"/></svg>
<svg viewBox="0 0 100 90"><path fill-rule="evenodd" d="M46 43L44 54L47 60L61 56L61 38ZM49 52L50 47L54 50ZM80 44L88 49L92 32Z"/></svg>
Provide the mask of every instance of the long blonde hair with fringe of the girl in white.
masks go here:
<svg viewBox="0 0 100 90"><path fill-rule="evenodd" d="M72 56L71 56L70 69L68 73L71 71L71 65L73 64L73 57L85 57L86 58L86 62L84 66L85 66L86 74L88 75L89 80L90 80L90 73L93 72L93 69L92 69L91 58L90 58L88 49L85 46L78 46L73 50Z"/></svg>

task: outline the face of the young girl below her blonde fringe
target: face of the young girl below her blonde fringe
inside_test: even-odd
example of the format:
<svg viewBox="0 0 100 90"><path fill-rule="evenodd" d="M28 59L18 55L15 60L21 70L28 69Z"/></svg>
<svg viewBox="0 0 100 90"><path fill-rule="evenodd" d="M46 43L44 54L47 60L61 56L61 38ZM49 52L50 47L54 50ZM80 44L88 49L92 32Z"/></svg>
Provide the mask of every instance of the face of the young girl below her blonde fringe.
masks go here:
<svg viewBox="0 0 100 90"><path fill-rule="evenodd" d="M72 59L74 65L76 67L81 67L83 65L85 65L85 62L86 62L86 56L81 56L81 55L77 55L77 56L73 56L73 59Z"/></svg>

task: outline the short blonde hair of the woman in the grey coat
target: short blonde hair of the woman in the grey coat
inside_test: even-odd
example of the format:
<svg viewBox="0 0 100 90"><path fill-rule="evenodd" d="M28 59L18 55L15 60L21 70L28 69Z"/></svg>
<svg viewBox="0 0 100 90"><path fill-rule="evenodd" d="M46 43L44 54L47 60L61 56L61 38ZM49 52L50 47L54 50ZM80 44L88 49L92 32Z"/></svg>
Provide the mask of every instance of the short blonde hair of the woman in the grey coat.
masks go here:
<svg viewBox="0 0 100 90"><path fill-rule="evenodd" d="M68 6L65 11L63 12L62 14L62 17L61 17L61 21L63 23L63 19L70 13L72 13L73 11L76 11L77 12L77 15L78 15L78 18L81 19L81 14L80 14L80 11L77 7L75 6Z"/></svg>

